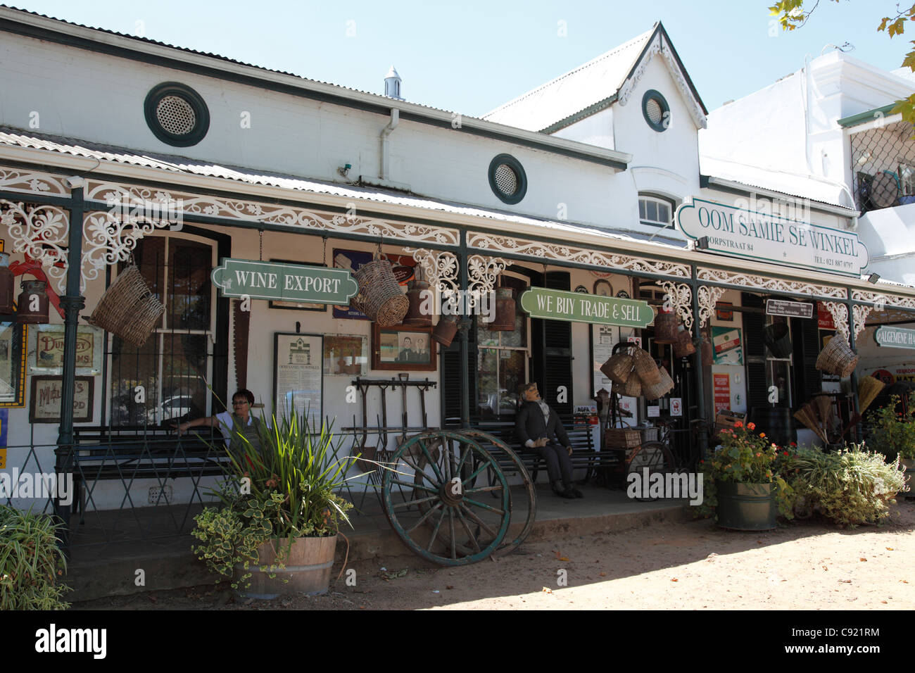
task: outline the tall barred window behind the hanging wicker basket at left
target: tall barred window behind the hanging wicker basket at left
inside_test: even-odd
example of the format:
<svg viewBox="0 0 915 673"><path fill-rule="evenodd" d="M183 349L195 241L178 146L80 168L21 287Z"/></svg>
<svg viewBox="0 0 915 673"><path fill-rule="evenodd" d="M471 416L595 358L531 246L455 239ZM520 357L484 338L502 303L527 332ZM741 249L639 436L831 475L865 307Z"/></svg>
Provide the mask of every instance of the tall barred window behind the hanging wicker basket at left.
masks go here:
<svg viewBox="0 0 915 673"><path fill-rule="evenodd" d="M214 244L177 236L147 236L135 263L166 307L142 347L113 337L109 424L162 426L210 416L215 296ZM121 266L122 269L124 265Z"/></svg>

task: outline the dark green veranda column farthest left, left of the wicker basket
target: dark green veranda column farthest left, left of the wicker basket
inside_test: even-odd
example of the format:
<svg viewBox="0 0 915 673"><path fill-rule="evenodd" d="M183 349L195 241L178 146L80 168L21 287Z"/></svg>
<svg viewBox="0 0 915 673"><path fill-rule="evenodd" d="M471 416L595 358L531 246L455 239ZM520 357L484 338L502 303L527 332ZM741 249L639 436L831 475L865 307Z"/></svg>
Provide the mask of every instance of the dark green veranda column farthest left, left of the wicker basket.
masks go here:
<svg viewBox="0 0 915 673"><path fill-rule="evenodd" d="M82 185L81 178L68 179L70 186L70 235L68 241L67 292L60 298L60 308L64 311L63 360L60 395L60 427L56 471L60 474L72 472L73 447L73 392L76 385L76 325L80 310L85 306L85 298L80 296L80 269L82 266ZM55 502L57 515L63 519L64 537L70 534L70 506L61 505L58 498Z"/></svg>

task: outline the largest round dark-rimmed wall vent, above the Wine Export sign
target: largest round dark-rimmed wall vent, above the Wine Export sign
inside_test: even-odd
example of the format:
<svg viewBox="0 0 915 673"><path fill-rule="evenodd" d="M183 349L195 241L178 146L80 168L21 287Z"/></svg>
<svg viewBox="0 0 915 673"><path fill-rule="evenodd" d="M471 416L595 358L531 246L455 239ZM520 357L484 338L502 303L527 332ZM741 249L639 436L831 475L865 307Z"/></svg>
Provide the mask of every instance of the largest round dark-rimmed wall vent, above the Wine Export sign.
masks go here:
<svg viewBox="0 0 915 673"><path fill-rule="evenodd" d="M210 128L210 111L198 92L178 82L159 84L146 95L146 124L174 147L197 145Z"/></svg>

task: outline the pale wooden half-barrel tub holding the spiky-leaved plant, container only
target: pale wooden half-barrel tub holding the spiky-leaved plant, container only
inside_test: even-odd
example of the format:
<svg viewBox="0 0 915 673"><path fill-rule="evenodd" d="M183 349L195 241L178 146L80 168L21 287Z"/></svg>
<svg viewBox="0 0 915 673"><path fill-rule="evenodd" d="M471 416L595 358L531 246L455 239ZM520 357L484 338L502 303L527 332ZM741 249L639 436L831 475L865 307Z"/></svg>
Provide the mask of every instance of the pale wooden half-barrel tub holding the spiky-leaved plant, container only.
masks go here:
<svg viewBox="0 0 915 673"><path fill-rule="evenodd" d="M282 549L285 554L285 568L269 570L270 566L276 564L278 549ZM296 537L292 548L289 547L287 537L267 542L257 549L258 564L251 564L247 570L252 573L249 580L251 586L247 589L240 588L238 593L244 598L264 600L299 593L309 596L327 593L336 549L337 536ZM268 570L261 570L259 566ZM246 572L241 566L236 566L235 570L237 574ZM271 574L274 578L270 577Z"/></svg>

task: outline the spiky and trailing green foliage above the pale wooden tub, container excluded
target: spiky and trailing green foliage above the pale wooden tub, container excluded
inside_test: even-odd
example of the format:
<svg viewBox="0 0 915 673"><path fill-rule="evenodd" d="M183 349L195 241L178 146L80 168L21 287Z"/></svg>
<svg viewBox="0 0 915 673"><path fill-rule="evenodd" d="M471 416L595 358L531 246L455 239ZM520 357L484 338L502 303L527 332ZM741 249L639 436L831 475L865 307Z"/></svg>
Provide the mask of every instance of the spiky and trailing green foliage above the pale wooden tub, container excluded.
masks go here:
<svg viewBox="0 0 915 673"><path fill-rule="evenodd" d="M350 525L352 505L336 491L356 459L334 458L339 442L327 424L318 428L304 414L279 421L274 415L272 421L261 424L260 446L234 432L233 446L239 448L229 452L227 482L215 492L222 506L207 507L194 519L192 535L201 544L192 551L221 578L233 577L239 566L249 570L268 541L288 539L287 547L277 544L277 565L261 568L279 570L296 537L336 535L340 522ZM222 444L214 449L225 450ZM231 586L237 589L250 577L243 572Z"/></svg>

